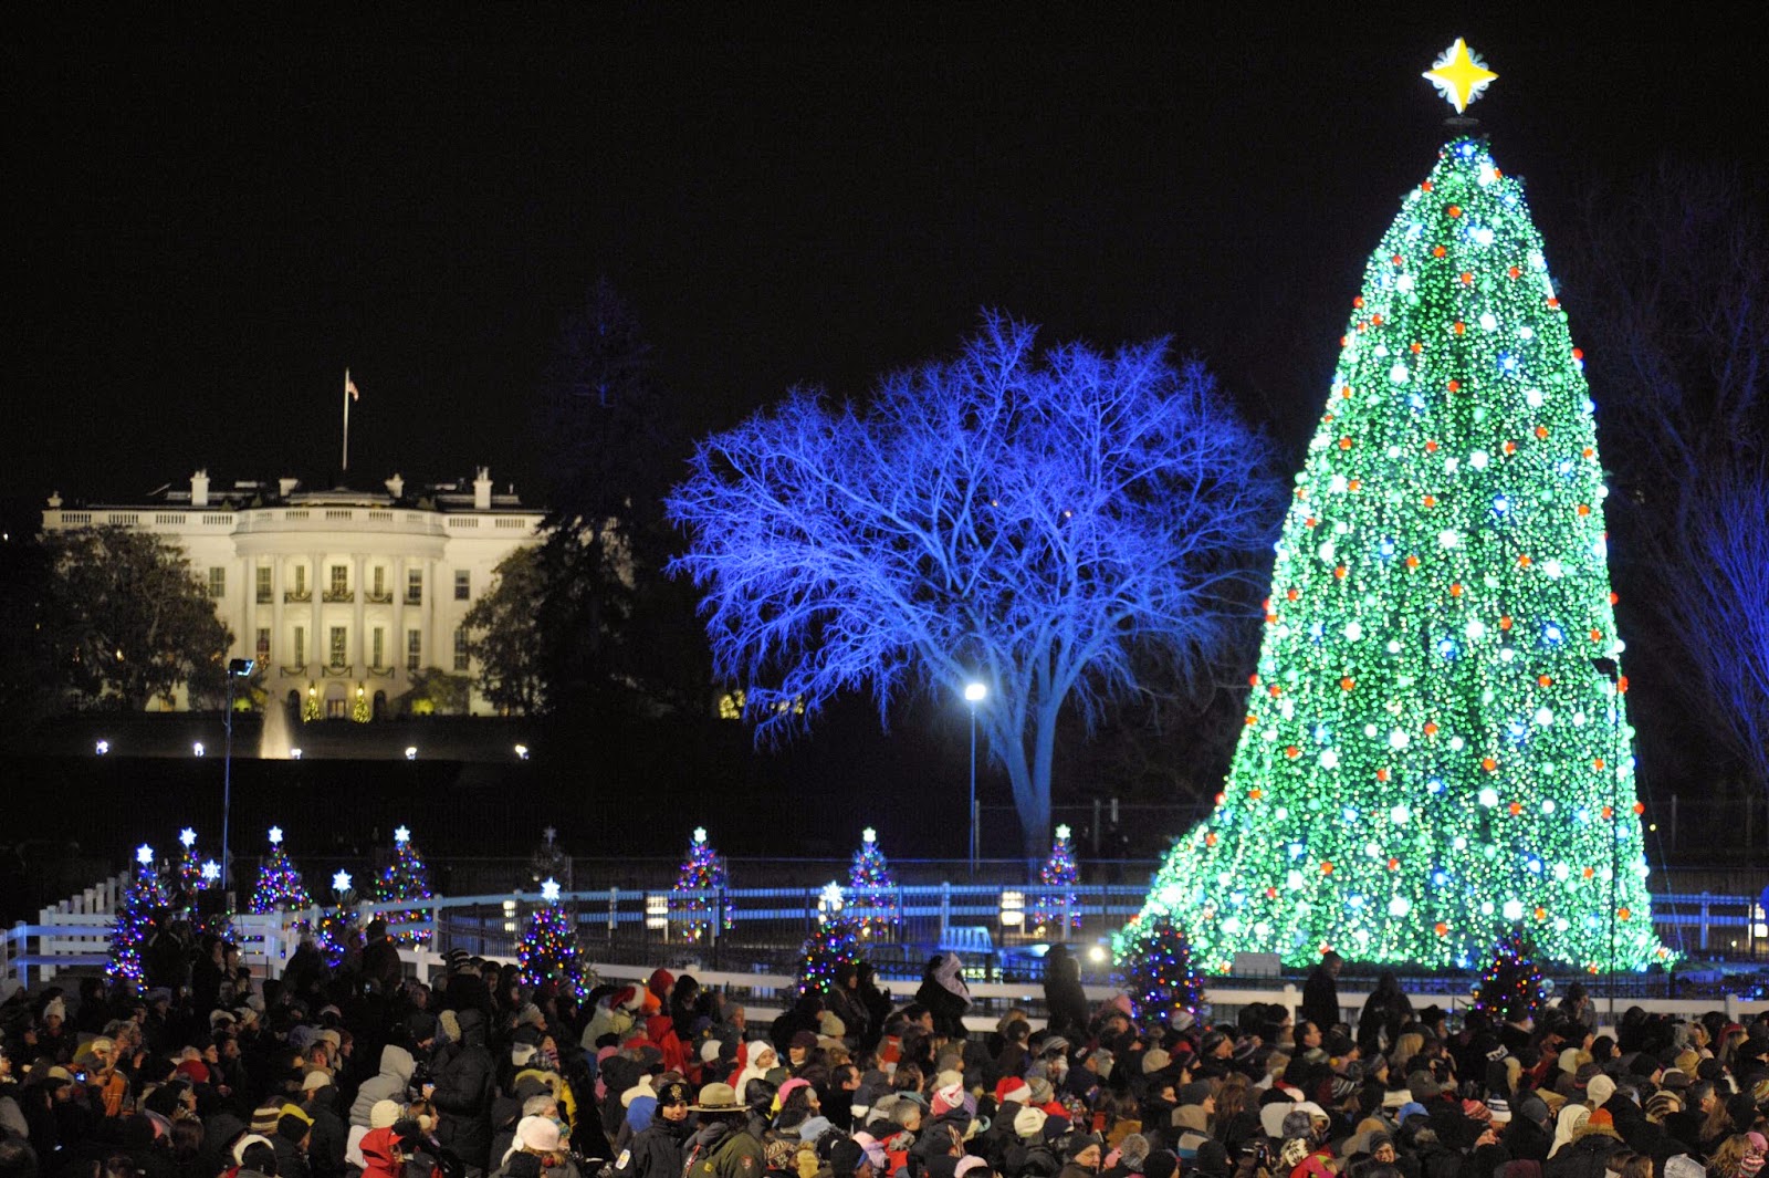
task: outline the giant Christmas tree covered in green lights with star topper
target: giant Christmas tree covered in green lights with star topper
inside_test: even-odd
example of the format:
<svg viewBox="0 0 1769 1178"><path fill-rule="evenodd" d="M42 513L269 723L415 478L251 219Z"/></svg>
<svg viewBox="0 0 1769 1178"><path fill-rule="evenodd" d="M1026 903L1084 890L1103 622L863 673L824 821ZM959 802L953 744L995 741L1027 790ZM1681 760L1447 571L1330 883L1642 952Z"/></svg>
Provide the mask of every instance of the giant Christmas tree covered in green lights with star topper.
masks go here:
<svg viewBox="0 0 1769 1178"><path fill-rule="evenodd" d="M1458 41L1433 76L1468 67ZM1604 968L1612 918L1619 968L1666 957L1581 368L1523 186L1458 134L1369 258L1240 746L1143 909L1205 969L1470 968L1516 923Z"/></svg>

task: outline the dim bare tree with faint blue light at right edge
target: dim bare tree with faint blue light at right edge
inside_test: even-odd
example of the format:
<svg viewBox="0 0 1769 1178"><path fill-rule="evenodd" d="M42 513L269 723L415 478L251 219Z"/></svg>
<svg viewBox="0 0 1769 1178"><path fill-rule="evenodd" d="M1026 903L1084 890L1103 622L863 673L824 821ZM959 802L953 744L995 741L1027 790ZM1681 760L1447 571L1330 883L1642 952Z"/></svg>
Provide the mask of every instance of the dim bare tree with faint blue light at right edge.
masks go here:
<svg viewBox="0 0 1769 1178"><path fill-rule="evenodd" d="M1769 792L1769 226L1762 184L1672 161L1592 196L1569 271L1650 605L1704 723Z"/></svg>

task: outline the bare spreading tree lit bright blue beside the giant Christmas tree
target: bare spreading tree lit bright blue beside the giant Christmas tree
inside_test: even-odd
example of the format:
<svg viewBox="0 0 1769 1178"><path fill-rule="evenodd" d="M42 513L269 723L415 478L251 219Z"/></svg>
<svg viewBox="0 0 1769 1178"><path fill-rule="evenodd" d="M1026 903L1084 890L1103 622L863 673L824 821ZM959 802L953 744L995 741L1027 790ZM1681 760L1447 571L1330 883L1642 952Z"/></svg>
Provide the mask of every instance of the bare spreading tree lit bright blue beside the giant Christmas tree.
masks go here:
<svg viewBox="0 0 1769 1178"><path fill-rule="evenodd" d="M1091 725L1134 660L1196 677L1272 538L1265 446L1166 341L1038 352L989 315L957 359L886 377L867 409L808 391L704 440L670 518L716 670L757 739L869 686L976 709L1042 858L1065 708Z"/></svg>

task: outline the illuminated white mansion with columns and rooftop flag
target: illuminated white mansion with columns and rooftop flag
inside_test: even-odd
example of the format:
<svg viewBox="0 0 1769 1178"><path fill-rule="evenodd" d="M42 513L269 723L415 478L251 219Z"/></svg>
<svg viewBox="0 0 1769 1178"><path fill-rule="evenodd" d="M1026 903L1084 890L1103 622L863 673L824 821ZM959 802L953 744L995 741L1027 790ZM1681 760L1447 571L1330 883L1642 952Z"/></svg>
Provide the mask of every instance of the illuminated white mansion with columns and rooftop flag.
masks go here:
<svg viewBox="0 0 1769 1178"><path fill-rule="evenodd" d="M357 700L386 711L416 670L474 670L462 619L499 561L540 543L543 515L513 486L494 493L485 467L471 483L414 488L394 474L384 492L302 490L290 478L219 490L198 470L143 502L74 508L51 495L42 529L175 541L234 635L232 656L258 660L271 699L348 716ZM186 708L182 690L173 708ZM492 711L478 692L471 709Z"/></svg>

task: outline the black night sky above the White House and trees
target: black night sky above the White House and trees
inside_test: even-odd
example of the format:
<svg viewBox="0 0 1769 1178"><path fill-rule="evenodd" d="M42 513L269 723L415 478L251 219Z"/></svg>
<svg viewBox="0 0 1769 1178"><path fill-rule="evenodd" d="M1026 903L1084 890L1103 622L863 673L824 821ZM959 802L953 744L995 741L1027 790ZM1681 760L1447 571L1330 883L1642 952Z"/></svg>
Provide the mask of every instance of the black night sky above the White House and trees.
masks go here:
<svg viewBox="0 0 1769 1178"><path fill-rule="evenodd" d="M752 5L19 34L14 525L50 490L115 499L198 465L331 481L347 364L357 483L488 463L532 486L536 373L598 274L690 430L794 382L865 391L987 304L1054 336L1171 333L1295 449L1362 258L1445 134L1419 73L1454 35L1500 73L1472 113L1550 260L1594 179L1663 150L1751 164L1762 142L1753 5L1684 32L727 7Z"/></svg>

